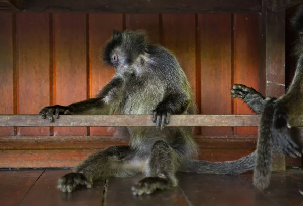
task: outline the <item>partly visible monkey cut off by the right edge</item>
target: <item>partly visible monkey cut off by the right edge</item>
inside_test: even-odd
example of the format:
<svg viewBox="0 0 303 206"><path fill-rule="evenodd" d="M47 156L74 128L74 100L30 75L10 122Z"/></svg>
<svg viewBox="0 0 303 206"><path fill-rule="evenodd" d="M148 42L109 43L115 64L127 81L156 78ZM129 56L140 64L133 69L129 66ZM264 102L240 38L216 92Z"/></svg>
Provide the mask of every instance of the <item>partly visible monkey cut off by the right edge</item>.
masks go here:
<svg viewBox="0 0 303 206"><path fill-rule="evenodd" d="M299 34L295 42L294 54L298 58L295 75L287 92L280 98L264 98L260 93L245 85L235 84L233 98L242 98L257 114L261 114L258 130L257 155L254 166L254 185L266 189L270 184L272 147L284 155L301 157L301 146L291 138L290 120L303 114L303 6L291 20Z"/></svg>

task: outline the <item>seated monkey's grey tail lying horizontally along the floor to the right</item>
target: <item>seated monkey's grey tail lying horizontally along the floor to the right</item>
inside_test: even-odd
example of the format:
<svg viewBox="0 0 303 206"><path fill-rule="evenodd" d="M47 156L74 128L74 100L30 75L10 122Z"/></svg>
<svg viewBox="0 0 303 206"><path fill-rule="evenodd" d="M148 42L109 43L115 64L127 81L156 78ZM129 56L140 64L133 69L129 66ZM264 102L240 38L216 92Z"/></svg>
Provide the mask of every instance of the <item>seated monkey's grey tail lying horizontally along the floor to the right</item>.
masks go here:
<svg viewBox="0 0 303 206"><path fill-rule="evenodd" d="M186 160L179 171L208 173L208 174L239 174L254 168L256 150L249 155L234 161L208 162L200 160Z"/></svg>

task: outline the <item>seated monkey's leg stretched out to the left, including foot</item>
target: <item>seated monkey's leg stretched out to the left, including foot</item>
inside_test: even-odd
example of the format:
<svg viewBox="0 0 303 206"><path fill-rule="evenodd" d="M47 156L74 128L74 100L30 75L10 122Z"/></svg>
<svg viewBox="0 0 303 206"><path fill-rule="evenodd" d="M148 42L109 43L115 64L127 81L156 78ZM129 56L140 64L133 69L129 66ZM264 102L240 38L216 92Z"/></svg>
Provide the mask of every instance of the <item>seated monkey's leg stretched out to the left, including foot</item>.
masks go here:
<svg viewBox="0 0 303 206"><path fill-rule="evenodd" d="M129 164L134 155L129 146L109 146L92 153L72 173L59 178L57 188L62 192L72 192L78 186L91 188L93 181L105 177L134 175L139 172L139 168L132 168Z"/></svg>

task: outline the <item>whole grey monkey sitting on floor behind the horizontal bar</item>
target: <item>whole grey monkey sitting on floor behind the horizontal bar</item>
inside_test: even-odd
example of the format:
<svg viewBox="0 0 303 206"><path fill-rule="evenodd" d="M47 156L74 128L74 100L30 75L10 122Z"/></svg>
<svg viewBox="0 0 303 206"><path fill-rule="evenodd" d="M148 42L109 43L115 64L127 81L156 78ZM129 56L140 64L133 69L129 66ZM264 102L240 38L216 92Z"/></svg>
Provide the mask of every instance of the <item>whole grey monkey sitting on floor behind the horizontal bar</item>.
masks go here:
<svg viewBox="0 0 303 206"><path fill-rule="evenodd" d="M106 43L103 61L113 66L114 77L94 98L68 106L49 106L40 116L50 122L59 115L151 115L155 127L118 127L116 135L128 145L108 146L89 155L71 173L58 180L57 188L72 192L107 177L143 174L131 190L149 195L178 185L177 171L239 174L251 170L255 153L234 161L208 162L191 159L197 155L192 127L167 127L171 115L192 115L197 107L191 86L175 55L151 44L144 30L113 30Z"/></svg>

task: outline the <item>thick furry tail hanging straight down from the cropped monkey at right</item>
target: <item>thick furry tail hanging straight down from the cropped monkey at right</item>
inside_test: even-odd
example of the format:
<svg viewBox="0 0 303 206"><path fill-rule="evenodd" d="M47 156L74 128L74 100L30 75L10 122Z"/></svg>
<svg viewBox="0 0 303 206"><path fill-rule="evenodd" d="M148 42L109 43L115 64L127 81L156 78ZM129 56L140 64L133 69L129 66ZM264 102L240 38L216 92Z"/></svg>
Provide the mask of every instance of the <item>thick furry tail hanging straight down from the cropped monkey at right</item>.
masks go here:
<svg viewBox="0 0 303 206"><path fill-rule="evenodd" d="M275 98L270 99L264 107L258 129L257 153L254 169L254 185L264 190L269 186L272 164L272 124Z"/></svg>

